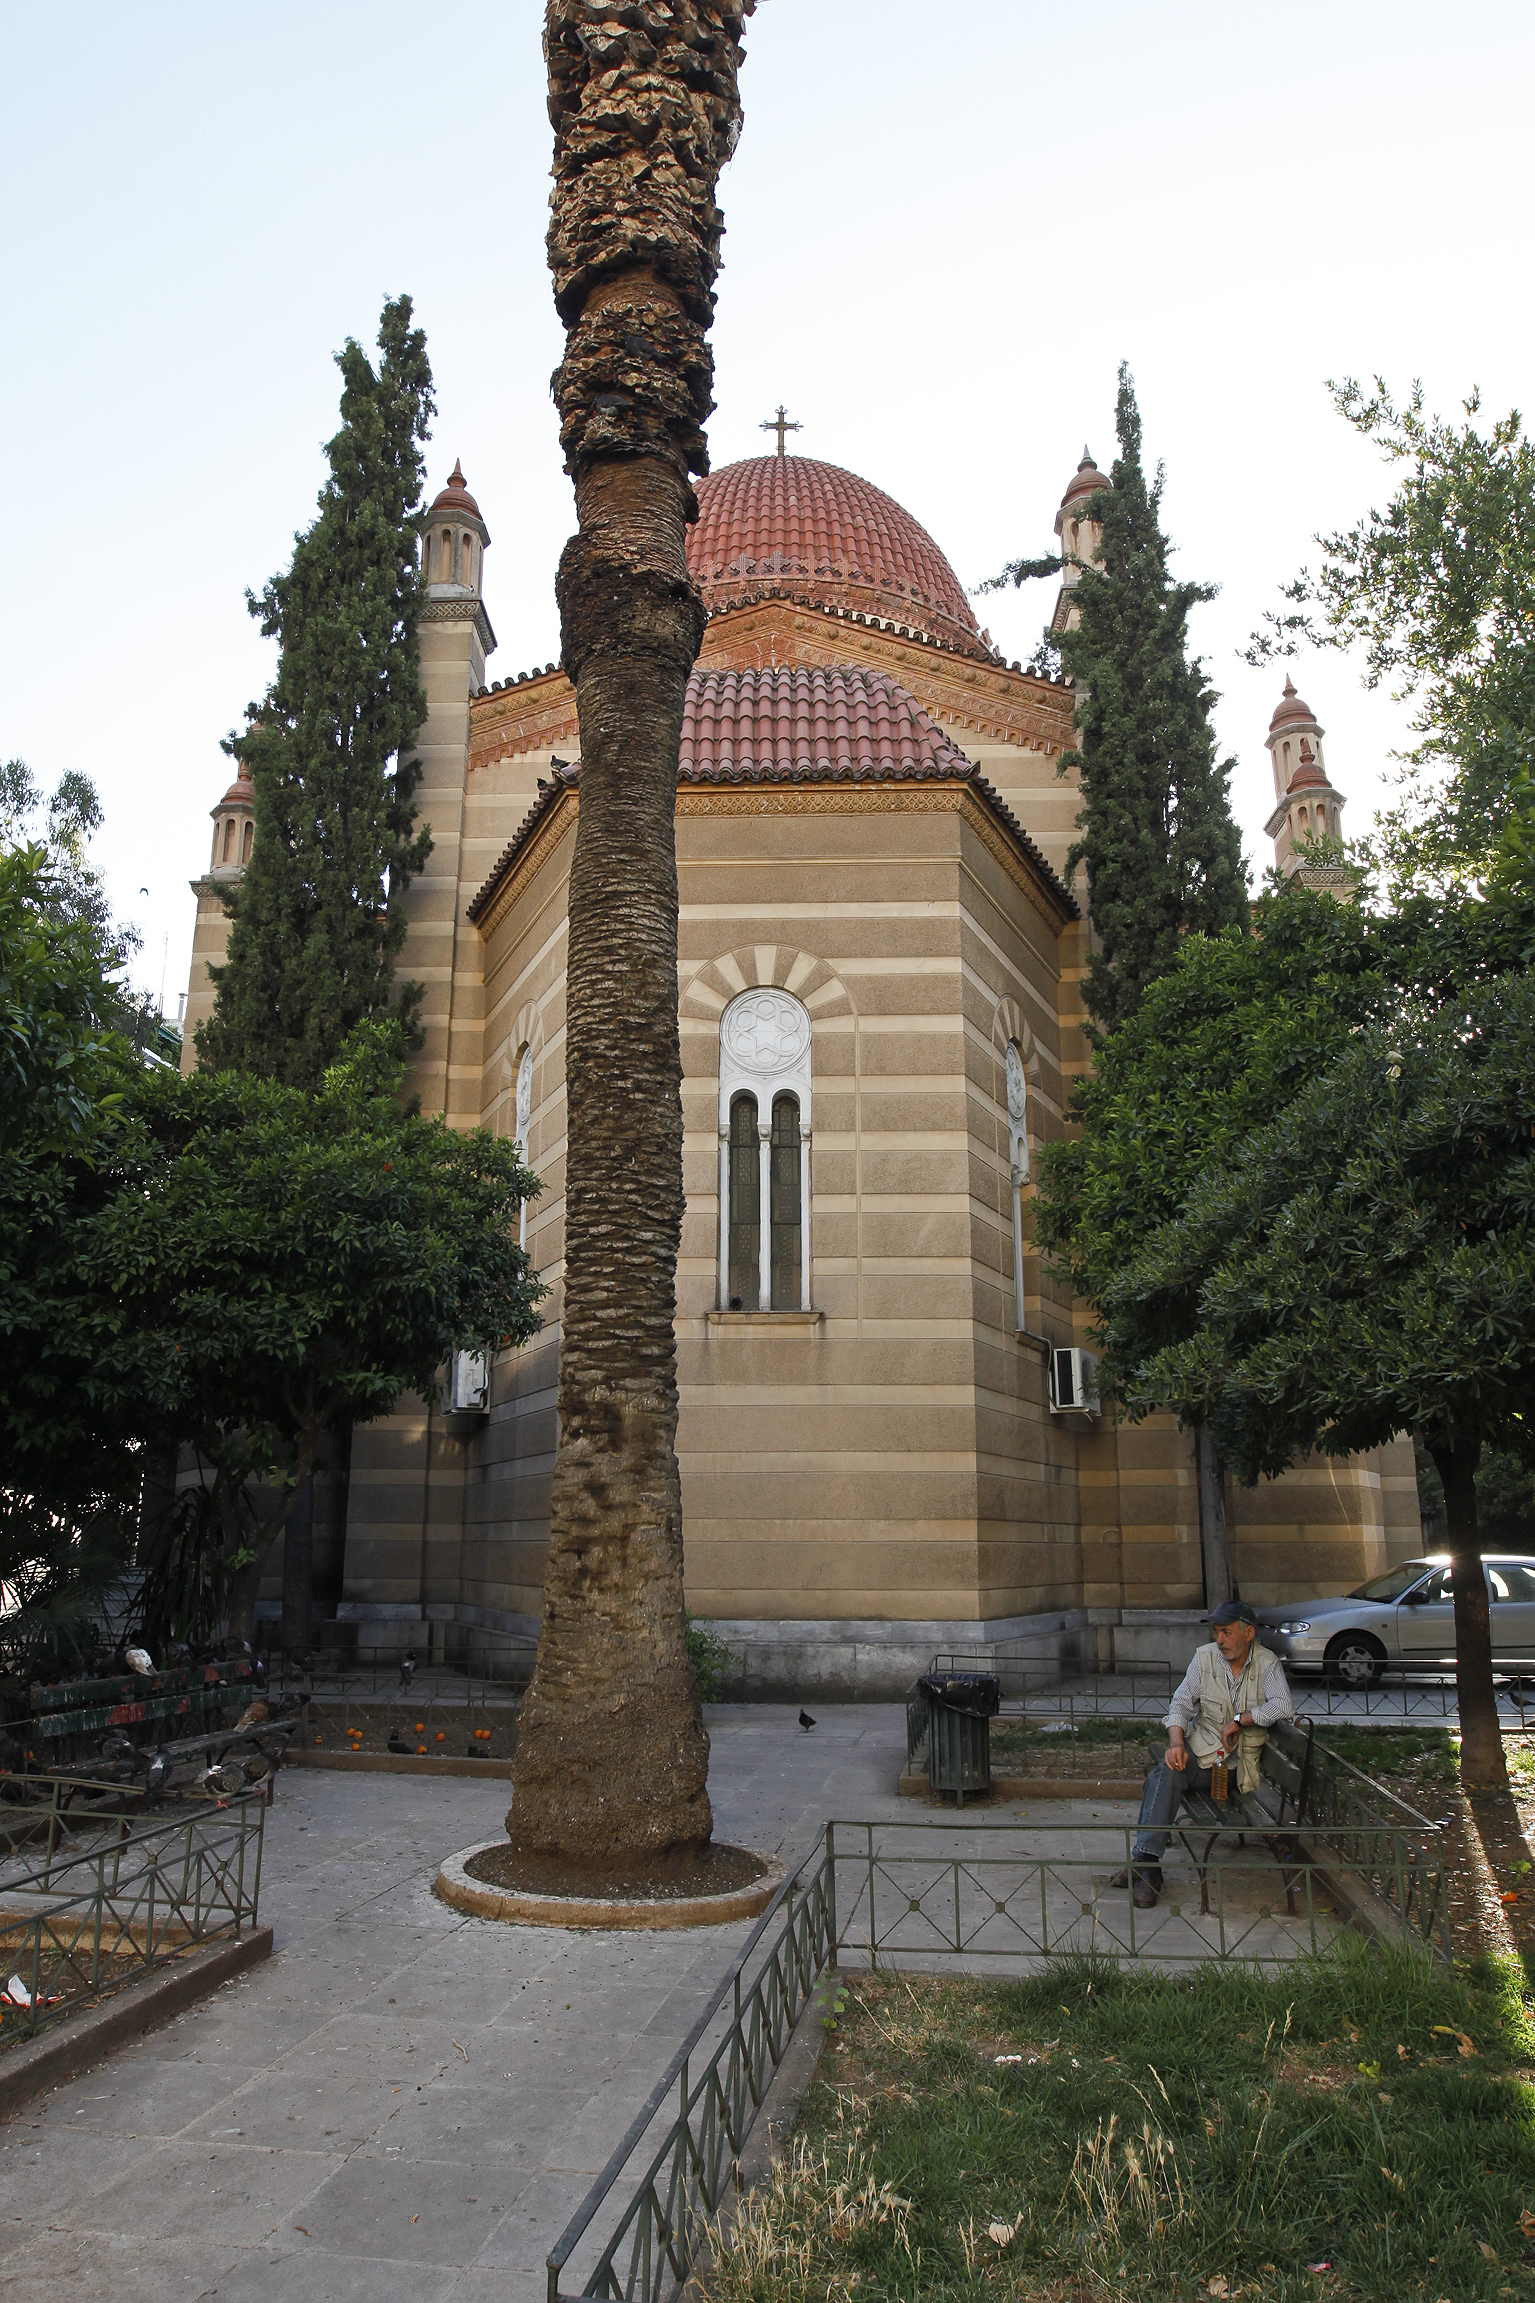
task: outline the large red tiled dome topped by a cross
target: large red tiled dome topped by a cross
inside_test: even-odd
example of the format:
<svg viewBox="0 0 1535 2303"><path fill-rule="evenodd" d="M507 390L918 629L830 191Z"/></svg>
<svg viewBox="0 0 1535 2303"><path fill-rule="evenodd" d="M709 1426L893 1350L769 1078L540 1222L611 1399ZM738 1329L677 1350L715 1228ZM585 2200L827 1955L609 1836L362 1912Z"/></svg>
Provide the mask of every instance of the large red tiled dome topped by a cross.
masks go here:
<svg viewBox="0 0 1535 2303"><path fill-rule="evenodd" d="M927 530L835 463L748 456L700 479L688 569L711 615L776 594L911 624L967 656L992 654Z"/></svg>

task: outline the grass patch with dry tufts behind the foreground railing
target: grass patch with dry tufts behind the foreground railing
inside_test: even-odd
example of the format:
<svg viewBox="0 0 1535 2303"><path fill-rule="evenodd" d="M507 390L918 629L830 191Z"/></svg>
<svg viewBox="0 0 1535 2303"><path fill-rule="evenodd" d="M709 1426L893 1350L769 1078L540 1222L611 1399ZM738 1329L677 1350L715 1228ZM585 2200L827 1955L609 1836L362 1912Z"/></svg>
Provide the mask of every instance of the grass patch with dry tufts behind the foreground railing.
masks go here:
<svg viewBox="0 0 1535 2303"><path fill-rule="evenodd" d="M716 2303L1535 2296L1512 1964L1344 1941L1277 1976L1070 1960L845 1990Z"/></svg>

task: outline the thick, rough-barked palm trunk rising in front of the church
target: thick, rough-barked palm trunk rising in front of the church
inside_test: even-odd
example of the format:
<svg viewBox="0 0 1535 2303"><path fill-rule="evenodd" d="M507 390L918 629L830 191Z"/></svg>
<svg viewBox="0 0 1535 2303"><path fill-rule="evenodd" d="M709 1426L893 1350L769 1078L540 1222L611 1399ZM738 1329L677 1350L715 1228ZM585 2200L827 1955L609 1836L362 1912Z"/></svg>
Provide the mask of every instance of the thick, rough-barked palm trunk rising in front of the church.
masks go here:
<svg viewBox="0 0 1535 2303"><path fill-rule="evenodd" d="M559 562L580 714L566 965L559 1451L506 1831L603 1865L709 1838L677 1469L677 746L704 606L718 170L748 7L550 0L555 375L580 532Z"/></svg>

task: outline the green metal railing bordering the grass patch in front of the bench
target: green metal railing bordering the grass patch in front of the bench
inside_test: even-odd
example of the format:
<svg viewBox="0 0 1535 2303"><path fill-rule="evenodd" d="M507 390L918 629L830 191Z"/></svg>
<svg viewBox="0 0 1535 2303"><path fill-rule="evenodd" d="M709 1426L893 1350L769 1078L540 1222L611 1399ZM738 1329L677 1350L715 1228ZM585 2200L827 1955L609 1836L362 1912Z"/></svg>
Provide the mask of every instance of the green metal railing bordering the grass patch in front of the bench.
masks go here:
<svg viewBox="0 0 1535 2303"><path fill-rule="evenodd" d="M1128 1886L1109 1886L1109 1875L1130 1863L1135 1829L1072 1826L1077 1852L1061 1854L1059 1824L828 1822L824 1845L782 1884L550 2250L550 2303L573 2296L663 2303L681 2287L736 2183L771 2075L826 1969L964 1960L971 1971L1017 1974L1079 1951L1155 1967L1206 1960L1282 1967L1323 1951L1346 1925L1344 1886L1349 1902L1369 1905L1376 1932L1450 1958L1443 1847L1436 1826L1420 1817L1411 1826L1307 1824L1303 1835L1277 1835L1263 1852L1243 1845L1259 1838L1252 1824L1201 1829L1201 1840L1220 1845L1215 1861L1206 1854L1199 1868L1211 1886L1208 1911L1199 1909L1199 1877L1178 1868L1169 1868L1153 1909L1137 1909ZM651 2139L667 2100L674 2112ZM631 2163L640 2165L637 2176ZM589 2268L573 2273L580 2285L566 2287L594 2227L605 2236Z"/></svg>

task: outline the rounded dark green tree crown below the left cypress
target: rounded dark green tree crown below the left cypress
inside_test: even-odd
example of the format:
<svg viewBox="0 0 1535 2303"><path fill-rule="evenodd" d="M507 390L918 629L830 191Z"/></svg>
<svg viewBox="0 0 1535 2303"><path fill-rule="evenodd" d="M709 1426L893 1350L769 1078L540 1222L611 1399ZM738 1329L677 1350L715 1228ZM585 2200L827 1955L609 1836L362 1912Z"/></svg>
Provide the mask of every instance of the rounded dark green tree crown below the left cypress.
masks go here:
<svg viewBox="0 0 1535 2303"><path fill-rule="evenodd" d="M400 1078L398 1018L313 1096L131 1071L90 1156L5 1172L0 1444L30 1492L191 1444L221 1589L251 1584L322 1432L536 1329L516 1244L536 1179L511 1142L403 1112Z"/></svg>

